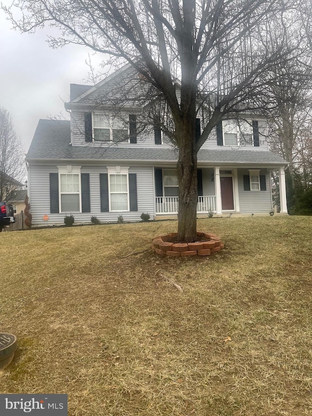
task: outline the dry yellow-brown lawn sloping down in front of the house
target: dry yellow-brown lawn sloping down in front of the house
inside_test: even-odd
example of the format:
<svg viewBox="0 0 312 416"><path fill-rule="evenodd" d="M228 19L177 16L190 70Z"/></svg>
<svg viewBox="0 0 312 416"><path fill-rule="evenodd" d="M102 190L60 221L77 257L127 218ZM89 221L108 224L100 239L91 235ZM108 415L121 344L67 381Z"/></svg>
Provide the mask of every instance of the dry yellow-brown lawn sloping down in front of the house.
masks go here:
<svg viewBox="0 0 312 416"><path fill-rule="evenodd" d="M213 257L125 257L176 226L1 233L19 347L0 393L67 393L69 416L312 415L312 218L202 219Z"/></svg>

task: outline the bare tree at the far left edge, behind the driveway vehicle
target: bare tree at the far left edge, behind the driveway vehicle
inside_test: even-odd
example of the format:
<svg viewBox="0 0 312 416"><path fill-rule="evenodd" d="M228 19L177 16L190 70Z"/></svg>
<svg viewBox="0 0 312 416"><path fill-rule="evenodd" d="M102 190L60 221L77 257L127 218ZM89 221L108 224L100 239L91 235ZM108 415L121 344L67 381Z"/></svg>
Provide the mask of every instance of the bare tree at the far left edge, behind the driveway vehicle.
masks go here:
<svg viewBox="0 0 312 416"><path fill-rule="evenodd" d="M0 201L17 189L26 174L23 149L10 113L0 107Z"/></svg>

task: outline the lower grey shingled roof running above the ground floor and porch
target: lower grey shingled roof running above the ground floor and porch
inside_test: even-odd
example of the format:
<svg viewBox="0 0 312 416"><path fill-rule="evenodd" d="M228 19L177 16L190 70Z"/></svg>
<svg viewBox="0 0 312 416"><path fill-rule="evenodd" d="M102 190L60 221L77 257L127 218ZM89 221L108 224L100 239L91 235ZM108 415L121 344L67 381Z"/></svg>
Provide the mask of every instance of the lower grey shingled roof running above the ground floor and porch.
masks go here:
<svg viewBox="0 0 312 416"><path fill-rule="evenodd" d="M70 121L40 119L34 139L28 150L26 160L116 160L116 161L150 161L174 162L177 151L173 148L139 148L135 147L95 147L72 146L70 144ZM199 164L204 163L241 163L261 164L264 166L285 166L288 163L269 151L261 150L199 150Z"/></svg>

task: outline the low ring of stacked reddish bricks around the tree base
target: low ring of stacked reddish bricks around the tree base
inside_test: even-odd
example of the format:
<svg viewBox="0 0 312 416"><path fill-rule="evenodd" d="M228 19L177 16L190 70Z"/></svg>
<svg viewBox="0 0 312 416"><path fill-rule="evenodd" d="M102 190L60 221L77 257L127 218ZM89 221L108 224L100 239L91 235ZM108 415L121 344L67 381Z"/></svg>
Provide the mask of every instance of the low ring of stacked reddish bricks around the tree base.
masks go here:
<svg viewBox="0 0 312 416"><path fill-rule="evenodd" d="M220 238L211 233L197 232L198 241L192 243L175 242L177 233L155 237L152 250L159 256L188 257L210 256L224 248Z"/></svg>

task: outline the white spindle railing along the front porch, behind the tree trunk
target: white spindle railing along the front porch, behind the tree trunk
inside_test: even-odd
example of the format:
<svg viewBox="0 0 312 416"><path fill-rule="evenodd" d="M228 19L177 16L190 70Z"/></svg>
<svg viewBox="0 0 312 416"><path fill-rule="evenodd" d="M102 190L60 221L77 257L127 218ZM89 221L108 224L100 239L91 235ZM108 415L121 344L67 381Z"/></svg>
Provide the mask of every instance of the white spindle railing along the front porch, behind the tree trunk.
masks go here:
<svg viewBox="0 0 312 416"><path fill-rule="evenodd" d="M179 206L178 197L156 197L156 214L177 214ZM216 212L215 196L198 197L197 213Z"/></svg>

